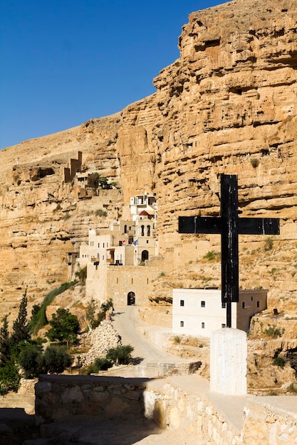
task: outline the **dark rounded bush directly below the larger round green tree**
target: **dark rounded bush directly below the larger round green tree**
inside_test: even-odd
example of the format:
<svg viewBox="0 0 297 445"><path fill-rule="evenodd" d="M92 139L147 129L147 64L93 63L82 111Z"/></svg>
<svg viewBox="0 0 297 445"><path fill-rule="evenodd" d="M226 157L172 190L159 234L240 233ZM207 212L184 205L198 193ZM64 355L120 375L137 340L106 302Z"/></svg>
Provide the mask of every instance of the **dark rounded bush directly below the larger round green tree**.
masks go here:
<svg viewBox="0 0 297 445"><path fill-rule="evenodd" d="M44 351L41 363L43 372L59 374L69 368L72 362L73 358L65 348L51 345Z"/></svg>

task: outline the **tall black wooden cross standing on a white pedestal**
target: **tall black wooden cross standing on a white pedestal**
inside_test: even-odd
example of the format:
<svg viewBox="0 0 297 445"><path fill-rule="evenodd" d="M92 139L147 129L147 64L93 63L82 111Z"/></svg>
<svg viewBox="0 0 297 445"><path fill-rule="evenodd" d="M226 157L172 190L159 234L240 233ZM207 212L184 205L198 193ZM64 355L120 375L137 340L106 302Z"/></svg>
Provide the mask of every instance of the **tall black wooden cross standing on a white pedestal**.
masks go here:
<svg viewBox="0 0 297 445"><path fill-rule="evenodd" d="M278 218L239 218L236 175L221 175L221 216L179 216L179 233L219 233L222 303L231 328L231 302L239 301L239 235L279 235Z"/></svg>

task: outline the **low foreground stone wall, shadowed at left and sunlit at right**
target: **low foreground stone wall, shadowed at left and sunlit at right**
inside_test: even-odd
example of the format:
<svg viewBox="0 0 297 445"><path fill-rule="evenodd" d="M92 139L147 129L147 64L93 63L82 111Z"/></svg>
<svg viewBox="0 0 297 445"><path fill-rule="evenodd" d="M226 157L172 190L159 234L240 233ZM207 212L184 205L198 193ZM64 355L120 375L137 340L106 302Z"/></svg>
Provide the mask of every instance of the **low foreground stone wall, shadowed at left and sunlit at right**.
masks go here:
<svg viewBox="0 0 297 445"><path fill-rule="evenodd" d="M198 375L155 380L41 375L35 391L40 423L145 416L163 429L183 431L197 443L297 443L296 397L217 395Z"/></svg>

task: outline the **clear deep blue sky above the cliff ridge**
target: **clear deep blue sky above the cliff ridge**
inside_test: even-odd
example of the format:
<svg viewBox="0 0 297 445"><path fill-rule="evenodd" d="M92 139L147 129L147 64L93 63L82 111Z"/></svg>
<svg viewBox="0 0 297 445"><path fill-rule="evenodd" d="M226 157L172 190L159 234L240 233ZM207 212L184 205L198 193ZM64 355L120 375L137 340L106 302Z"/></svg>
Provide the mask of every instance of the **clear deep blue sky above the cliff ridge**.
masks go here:
<svg viewBox="0 0 297 445"><path fill-rule="evenodd" d="M1 0L0 149L155 91L192 11L223 0Z"/></svg>

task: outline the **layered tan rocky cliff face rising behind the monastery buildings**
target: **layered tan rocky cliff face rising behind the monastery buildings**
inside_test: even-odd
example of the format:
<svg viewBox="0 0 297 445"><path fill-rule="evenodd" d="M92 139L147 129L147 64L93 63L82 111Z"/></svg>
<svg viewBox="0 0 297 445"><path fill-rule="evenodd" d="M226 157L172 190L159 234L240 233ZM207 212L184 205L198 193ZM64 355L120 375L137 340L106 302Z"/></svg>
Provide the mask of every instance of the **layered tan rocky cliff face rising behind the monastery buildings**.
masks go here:
<svg viewBox="0 0 297 445"><path fill-rule="evenodd" d="M219 284L219 267L197 263L219 250L219 238L177 233L179 215L219 213L219 173L238 175L243 216L281 218L269 251L264 238L242 237L241 286L264 283L271 306L296 312L296 21L295 0L234 0L194 12L179 37L180 58L155 77L154 95L2 150L1 313L24 286L34 301L51 282L66 281L71 241L78 246L88 228L108 224L95 217L98 206L109 205L110 219L119 209L125 215L130 196L144 191L157 196L168 277L152 298L169 299L174 280ZM61 167L78 150L85 168L121 186L112 203L108 196L82 201L63 183Z"/></svg>

